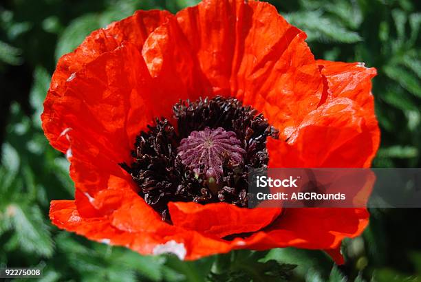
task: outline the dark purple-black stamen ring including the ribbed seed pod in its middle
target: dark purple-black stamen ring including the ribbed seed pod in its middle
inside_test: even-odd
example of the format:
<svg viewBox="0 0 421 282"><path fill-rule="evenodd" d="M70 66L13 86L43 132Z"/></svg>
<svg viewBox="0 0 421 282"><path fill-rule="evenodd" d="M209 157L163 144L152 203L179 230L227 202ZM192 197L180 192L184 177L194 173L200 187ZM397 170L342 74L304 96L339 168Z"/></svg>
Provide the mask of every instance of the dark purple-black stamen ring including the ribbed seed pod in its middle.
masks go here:
<svg viewBox="0 0 421 282"><path fill-rule="evenodd" d="M136 138L133 162L120 164L162 219L169 202L227 202L248 206L248 172L268 164L266 138L278 132L235 98L180 101L177 131L157 119Z"/></svg>

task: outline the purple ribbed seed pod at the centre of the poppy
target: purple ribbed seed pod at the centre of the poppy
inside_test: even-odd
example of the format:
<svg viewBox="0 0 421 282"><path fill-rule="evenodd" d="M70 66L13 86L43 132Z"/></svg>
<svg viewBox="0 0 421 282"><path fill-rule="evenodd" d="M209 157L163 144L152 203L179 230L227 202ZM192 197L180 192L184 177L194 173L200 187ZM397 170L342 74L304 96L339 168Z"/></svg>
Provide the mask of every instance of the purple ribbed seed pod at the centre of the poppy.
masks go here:
<svg viewBox="0 0 421 282"><path fill-rule="evenodd" d="M246 154L235 132L222 127L193 131L181 140L177 152L189 169L197 174L204 173L207 178L213 177L217 183L224 176L224 161L230 162L230 166L239 166Z"/></svg>

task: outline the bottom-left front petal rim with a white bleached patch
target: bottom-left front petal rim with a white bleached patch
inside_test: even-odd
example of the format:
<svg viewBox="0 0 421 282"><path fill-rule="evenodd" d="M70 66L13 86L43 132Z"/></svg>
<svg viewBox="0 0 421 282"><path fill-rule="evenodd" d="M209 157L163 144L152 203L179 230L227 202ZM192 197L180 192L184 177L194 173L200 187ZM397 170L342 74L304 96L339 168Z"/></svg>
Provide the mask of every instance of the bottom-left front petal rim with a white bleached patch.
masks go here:
<svg viewBox="0 0 421 282"><path fill-rule="evenodd" d="M126 210L127 213L130 210ZM116 246L131 248L140 254L173 253L180 259L199 259L232 249L230 243L205 237L191 230L169 226L162 232L131 230L116 227L109 217L84 218L78 213L74 201L52 201L50 219L58 228L76 232L88 239ZM139 219L140 220L140 219Z"/></svg>

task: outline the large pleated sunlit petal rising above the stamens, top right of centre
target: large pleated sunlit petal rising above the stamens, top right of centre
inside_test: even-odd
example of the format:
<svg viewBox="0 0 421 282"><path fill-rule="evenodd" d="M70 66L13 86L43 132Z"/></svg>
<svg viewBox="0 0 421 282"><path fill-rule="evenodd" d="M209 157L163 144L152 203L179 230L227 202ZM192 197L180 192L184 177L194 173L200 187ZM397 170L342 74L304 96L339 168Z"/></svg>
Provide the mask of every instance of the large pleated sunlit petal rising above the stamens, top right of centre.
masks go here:
<svg viewBox="0 0 421 282"><path fill-rule="evenodd" d="M323 80L305 34L270 4L205 0L177 19L214 94L252 105L285 137L319 105Z"/></svg>

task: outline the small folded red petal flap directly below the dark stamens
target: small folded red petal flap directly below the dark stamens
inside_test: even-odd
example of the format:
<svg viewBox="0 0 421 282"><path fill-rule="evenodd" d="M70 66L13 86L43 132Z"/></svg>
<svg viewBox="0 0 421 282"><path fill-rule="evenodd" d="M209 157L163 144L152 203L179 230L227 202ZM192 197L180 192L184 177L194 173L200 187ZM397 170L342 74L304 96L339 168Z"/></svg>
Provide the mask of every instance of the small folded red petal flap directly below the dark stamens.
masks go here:
<svg viewBox="0 0 421 282"><path fill-rule="evenodd" d="M169 212L174 226L223 238L261 230L280 215L281 208L239 208L226 203L201 205L170 202Z"/></svg>

